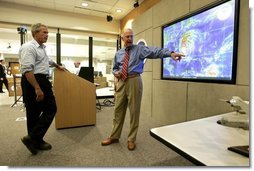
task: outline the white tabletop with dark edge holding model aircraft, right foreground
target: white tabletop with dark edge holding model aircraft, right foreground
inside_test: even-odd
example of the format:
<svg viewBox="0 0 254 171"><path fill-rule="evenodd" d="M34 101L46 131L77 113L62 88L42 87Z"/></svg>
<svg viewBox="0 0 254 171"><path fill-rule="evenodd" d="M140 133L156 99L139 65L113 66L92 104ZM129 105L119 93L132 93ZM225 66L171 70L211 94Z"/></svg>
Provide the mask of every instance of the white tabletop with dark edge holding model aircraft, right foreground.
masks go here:
<svg viewBox="0 0 254 171"><path fill-rule="evenodd" d="M150 135L196 165L250 166L248 157L227 149L249 145L249 131L217 124L222 116L233 114L153 128Z"/></svg>

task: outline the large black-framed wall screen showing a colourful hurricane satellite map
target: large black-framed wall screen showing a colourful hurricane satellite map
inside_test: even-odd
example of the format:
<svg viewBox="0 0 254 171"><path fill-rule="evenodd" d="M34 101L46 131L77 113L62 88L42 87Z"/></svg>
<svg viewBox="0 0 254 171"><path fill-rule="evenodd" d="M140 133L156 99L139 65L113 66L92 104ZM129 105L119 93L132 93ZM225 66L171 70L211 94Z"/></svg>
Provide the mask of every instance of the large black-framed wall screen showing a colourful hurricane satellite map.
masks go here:
<svg viewBox="0 0 254 171"><path fill-rule="evenodd" d="M162 27L162 47L186 55L162 60L162 79L234 84L239 1L223 0Z"/></svg>

